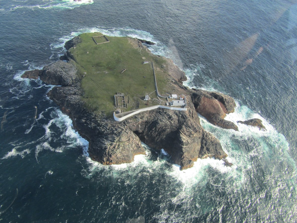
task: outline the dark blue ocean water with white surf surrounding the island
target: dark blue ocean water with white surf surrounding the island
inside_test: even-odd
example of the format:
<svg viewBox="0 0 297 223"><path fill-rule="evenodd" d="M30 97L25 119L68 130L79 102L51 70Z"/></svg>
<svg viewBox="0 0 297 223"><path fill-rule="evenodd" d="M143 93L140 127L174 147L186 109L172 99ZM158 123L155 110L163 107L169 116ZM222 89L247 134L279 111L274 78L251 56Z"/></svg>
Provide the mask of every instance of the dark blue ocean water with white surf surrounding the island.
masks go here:
<svg viewBox="0 0 297 223"><path fill-rule="evenodd" d="M0 0L0 222L296 222L296 1L84 2ZM53 86L20 76L95 31L156 42L186 85L235 98L226 119L257 117L268 131L200 117L232 168L208 158L179 171L148 147L132 164L91 161L47 98Z"/></svg>

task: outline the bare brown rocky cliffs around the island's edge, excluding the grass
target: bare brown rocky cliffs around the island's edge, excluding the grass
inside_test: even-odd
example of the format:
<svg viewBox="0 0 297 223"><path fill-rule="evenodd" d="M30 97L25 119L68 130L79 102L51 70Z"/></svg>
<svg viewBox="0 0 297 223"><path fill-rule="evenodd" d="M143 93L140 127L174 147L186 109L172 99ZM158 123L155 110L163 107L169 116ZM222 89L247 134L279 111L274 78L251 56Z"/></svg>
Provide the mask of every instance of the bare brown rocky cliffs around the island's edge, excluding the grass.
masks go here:
<svg viewBox="0 0 297 223"><path fill-rule="evenodd" d="M65 47L69 49L77 42L79 38L70 40ZM177 91L188 95L186 112L159 108L116 122L86 109L80 98L83 91L78 70L75 62L69 60L45 66L38 74L45 83L61 85L54 87L48 96L69 115L74 128L88 140L93 160L102 164L132 162L135 155L145 154L140 140L155 149L163 148L181 169L192 167L198 158L227 157L218 139L202 128L197 112L215 125L236 130L234 123L223 119L225 114L234 111L232 98L217 92L194 91L176 82ZM174 79L185 79L172 61L168 64L167 69Z"/></svg>

